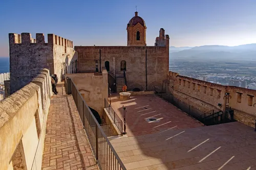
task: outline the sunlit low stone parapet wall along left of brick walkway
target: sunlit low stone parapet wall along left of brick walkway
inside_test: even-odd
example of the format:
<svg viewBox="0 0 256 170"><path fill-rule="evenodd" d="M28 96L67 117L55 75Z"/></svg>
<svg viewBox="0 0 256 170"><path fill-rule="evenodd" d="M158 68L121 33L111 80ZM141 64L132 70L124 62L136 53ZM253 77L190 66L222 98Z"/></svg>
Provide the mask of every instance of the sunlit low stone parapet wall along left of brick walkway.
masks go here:
<svg viewBox="0 0 256 170"><path fill-rule="evenodd" d="M52 95L50 72L0 102L0 169L41 169Z"/></svg>

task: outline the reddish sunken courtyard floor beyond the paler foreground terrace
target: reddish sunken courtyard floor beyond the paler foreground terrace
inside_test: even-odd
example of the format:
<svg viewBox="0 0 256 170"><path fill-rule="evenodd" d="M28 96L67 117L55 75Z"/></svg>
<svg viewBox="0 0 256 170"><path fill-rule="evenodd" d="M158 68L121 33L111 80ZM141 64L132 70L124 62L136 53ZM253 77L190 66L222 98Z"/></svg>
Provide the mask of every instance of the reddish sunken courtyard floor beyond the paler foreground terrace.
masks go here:
<svg viewBox="0 0 256 170"><path fill-rule="evenodd" d="M196 119L155 95L135 95L127 101L120 101L119 97L115 96L111 98L111 106L122 120L122 106L126 107L127 136L157 133L170 128L180 130L203 126ZM159 122L146 121L152 117Z"/></svg>

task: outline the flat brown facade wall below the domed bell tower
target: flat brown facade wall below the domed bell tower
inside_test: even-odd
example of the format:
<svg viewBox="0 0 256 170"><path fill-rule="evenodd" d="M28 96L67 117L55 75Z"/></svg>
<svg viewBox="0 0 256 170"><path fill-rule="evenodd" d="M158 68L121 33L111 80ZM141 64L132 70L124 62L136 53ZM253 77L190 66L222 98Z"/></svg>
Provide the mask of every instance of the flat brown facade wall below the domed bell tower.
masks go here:
<svg viewBox="0 0 256 170"><path fill-rule="evenodd" d="M139 88L146 90L146 58L147 58L147 90L154 86L162 88L163 80L168 74L169 44L167 46L75 46L78 53L78 72L95 72L95 60L101 53L101 67L110 63L110 72L123 76L120 71L122 60L126 62L126 80L128 90ZM100 68L100 66L98 67Z"/></svg>

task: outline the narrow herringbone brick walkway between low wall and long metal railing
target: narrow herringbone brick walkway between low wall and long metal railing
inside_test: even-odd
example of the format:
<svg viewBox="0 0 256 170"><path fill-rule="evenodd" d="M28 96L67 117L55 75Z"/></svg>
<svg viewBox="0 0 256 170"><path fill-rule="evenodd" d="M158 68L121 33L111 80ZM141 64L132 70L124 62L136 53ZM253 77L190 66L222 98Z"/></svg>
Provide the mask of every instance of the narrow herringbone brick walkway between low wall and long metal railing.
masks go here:
<svg viewBox="0 0 256 170"><path fill-rule="evenodd" d="M61 86L51 99L42 170L98 169L73 98Z"/></svg>

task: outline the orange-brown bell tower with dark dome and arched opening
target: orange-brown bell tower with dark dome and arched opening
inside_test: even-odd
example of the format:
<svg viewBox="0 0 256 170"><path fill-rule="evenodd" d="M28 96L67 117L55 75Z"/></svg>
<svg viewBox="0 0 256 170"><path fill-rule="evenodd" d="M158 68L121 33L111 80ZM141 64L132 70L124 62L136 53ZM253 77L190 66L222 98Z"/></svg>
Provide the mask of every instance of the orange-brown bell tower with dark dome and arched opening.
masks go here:
<svg viewBox="0 0 256 170"><path fill-rule="evenodd" d="M138 16L135 16L127 24L127 46L146 46L146 25L145 21Z"/></svg>

